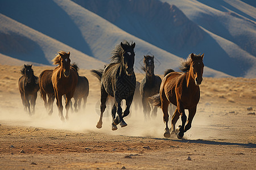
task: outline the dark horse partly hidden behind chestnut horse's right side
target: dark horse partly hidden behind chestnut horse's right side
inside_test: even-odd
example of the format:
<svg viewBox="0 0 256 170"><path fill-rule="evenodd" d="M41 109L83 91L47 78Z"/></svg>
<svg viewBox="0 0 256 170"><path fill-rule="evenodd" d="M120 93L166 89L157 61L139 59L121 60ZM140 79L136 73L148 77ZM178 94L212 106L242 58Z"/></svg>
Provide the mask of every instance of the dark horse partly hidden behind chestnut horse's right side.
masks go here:
<svg viewBox="0 0 256 170"><path fill-rule="evenodd" d="M79 67L76 65L76 63L72 63L71 67L76 69L76 71L79 70ZM78 72L77 72L77 76L78 76L78 82L77 82L76 90L73 96L73 98L75 99L75 103L74 103L75 112L78 112L80 110L82 99L84 99L83 108L85 109L87 97L89 95L88 79L85 76L80 76ZM70 102L70 105L72 109L72 101Z"/></svg>

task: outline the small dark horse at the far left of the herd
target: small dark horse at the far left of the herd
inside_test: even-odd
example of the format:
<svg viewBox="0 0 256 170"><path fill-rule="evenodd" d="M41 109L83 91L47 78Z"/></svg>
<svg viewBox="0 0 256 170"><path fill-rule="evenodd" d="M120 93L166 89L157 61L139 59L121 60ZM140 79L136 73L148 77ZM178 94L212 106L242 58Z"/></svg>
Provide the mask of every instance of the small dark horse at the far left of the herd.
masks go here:
<svg viewBox="0 0 256 170"><path fill-rule="evenodd" d="M32 113L35 113L36 97L38 96L38 77L34 75L32 65L24 65L20 70L22 76L19 78L19 92L22 98L24 110L31 116L30 103Z"/></svg>

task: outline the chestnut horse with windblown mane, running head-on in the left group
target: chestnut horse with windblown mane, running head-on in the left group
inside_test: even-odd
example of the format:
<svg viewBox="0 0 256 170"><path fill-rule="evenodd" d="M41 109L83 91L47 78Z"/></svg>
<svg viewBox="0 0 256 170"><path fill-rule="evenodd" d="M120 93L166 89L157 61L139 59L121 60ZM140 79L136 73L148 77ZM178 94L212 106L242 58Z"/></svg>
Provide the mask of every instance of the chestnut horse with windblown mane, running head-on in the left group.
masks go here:
<svg viewBox="0 0 256 170"><path fill-rule="evenodd" d="M52 59L53 64L59 65L52 72L52 86L57 100L56 104L59 108L59 115L62 121L64 121L65 118L68 120L68 109L70 107L69 101L74 95L78 79L76 69L70 66L71 60L69 59L69 56L70 52L59 52L59 54L54 59ZM65 104L65 118L63 117L63 95L67 97Z"/></svg>

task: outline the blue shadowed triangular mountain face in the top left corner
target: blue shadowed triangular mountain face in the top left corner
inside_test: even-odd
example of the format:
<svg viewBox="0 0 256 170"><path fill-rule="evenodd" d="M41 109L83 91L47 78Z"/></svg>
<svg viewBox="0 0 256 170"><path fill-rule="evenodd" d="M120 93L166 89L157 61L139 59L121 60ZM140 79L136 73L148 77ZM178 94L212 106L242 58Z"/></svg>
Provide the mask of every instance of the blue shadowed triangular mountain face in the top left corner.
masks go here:
<svg viewBox="0 0 256 170"><path fill-rule="evenodd" d="M0 11L1 14L92 56L80 29L53 1L2 1Z"/></svg>

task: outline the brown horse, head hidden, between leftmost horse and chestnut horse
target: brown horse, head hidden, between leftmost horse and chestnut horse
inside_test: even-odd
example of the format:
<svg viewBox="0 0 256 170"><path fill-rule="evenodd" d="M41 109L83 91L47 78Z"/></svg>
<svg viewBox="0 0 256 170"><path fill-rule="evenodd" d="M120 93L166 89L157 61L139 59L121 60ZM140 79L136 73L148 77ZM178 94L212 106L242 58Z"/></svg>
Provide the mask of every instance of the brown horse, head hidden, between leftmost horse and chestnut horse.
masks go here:
<svg viewBox="0 0 256 170"><path fill-rule="evenodd" d="M44 100L44 107L46 107L48 114L53 112L53 101L55 98L54 90L52 86L52 72L53 70L44 70L39 75L39 87L42 99ZM48 96L48 101L47 101Z"/></svg>

